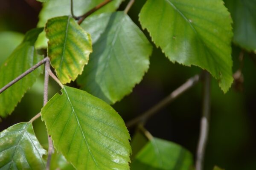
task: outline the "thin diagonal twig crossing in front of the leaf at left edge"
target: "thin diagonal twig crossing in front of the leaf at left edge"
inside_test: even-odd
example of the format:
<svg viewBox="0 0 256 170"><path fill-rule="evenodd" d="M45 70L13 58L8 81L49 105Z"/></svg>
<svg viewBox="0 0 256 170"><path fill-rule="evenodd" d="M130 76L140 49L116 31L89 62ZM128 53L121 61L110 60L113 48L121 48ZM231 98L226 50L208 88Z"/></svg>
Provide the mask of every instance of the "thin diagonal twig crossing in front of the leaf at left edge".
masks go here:
<svg viewBox="0 0 256 170"><path fill-rule="evenodd" d="M40 62L38 62L36 65L33 65L31 68L29 68L27 71L25 71L23 74L20 74L18 77L16 77L14 80L12 80L11 82L9 82L7 85L5 85L3 88L0 89L0 94L3 93L3 91L5 91L6 89L8 89L9 87L11 87L12 85L14 85L17 81L19 81L20 79L22 79L23 77L25 77L26 75L28 75L29 73L31 73L32 71L34 71L36 68L38 68L40 65L44 64L47 60L49 60L48 57L44 58L43 60L41 60Z"/></svg>

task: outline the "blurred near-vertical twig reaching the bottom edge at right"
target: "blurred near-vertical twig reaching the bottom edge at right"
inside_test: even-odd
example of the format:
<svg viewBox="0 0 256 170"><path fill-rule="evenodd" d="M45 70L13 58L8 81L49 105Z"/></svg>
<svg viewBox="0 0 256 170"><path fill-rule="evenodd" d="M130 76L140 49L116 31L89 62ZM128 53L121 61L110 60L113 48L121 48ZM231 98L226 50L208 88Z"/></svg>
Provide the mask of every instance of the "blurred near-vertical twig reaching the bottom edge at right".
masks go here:
<svg viewBox="0 0 256 170"><path fill-rule="evenodd" d="M201 118L200 136L198 141L197 155L196 155L196 170L203 170L204 168L204 153L208 139L209 132L209 118L210 118L210 94L211 94L211 76L205 71L204 74L204 91L203 91L203 115Z"/></svg>

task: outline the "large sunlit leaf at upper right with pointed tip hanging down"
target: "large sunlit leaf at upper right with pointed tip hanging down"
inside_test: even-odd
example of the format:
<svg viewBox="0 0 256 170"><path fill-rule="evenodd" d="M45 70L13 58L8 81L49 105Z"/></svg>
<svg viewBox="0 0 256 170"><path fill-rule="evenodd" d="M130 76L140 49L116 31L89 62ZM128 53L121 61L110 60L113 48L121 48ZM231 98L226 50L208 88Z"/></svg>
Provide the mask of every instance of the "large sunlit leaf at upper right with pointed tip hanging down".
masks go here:
<svg viewBox="0 0 256 170"><path fill-rule="evenodd" d="M233 33L222 0L147 0L139 17L172 62L206 69L228 91L233 82Z"/></svg>

